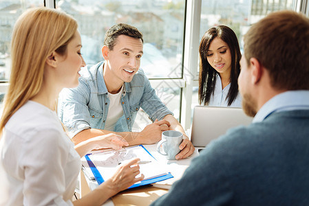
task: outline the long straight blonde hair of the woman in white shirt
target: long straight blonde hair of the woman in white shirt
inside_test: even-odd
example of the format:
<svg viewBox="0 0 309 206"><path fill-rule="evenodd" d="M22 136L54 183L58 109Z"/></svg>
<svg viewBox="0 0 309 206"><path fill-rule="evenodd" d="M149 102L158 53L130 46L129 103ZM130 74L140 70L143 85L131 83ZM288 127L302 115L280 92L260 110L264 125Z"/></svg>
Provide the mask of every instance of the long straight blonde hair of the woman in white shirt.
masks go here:
<svg viewBox="0 0 309 206"><path fill-rule="evenodd" d="M39 93L47 56L54 51L65 55L76 30L71 16L50 8L34 8L19 16L12 33L10 86L4 98L0 135L10 117Z"/></svg>

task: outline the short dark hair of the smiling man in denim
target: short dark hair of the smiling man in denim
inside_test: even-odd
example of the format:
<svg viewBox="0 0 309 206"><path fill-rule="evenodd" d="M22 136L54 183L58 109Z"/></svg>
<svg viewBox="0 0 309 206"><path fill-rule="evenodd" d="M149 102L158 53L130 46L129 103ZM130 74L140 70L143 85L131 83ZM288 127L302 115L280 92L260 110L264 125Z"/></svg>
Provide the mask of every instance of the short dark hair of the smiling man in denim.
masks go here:
<svg viewBox="0 0 309 206"><path fill-rule="evenodd" d="M128 25L126 23L118 23L113 25L105 34L104 45L109 49L113 50L116 44L117 38L120 35L130 36L133 38L142 39L142 32L138 31L138 29L134 26Z"/></svg>

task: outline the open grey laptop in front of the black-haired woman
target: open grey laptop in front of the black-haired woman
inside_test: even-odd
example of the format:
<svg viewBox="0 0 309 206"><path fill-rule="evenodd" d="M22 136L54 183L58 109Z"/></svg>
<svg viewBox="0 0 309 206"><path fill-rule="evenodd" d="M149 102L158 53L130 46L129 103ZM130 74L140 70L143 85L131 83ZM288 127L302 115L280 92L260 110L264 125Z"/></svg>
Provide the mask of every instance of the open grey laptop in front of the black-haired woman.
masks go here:
<svg viewBox="0 0 309 206"><path fill-rule="evenodd" d="M195 147L205 147L210 141L224 135L226 130L240 125L251 124L242 108L222 106L195 106L191 141Z"/></svg>

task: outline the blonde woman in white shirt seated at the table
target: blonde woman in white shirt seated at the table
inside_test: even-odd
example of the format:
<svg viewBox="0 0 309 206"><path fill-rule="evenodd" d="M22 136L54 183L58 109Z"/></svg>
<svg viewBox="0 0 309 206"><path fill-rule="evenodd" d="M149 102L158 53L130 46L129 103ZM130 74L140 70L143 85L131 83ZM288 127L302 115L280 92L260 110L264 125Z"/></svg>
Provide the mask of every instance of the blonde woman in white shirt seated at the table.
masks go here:
<svg viewBox="0 0 309 206"><path fill-rule="evenodd" d="M0 121L0 205L102 205L141 181L138 161L122 165L87 196L71 202L81 160L94 148L121 148L118 135L75 146L54 111L64 87L78 86L85 66L77 23L67 14L36 8L22 14L12 34L12 71Z"/></svg>

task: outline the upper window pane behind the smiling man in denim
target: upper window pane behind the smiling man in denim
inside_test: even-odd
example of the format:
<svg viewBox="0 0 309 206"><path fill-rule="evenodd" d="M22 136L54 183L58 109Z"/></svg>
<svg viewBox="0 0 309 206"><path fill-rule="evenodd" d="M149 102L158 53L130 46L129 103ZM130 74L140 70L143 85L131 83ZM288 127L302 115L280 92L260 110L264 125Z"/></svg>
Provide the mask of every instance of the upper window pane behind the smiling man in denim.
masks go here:
<svg viewBox="0 0 309 206"><path fill-rule="evenodd" d="M116 23L128 23L144 38L141 68L148 78L182 78L184 0L56 1L56 8L78 21L87 64L103 60L104 35Z"/></svg>

